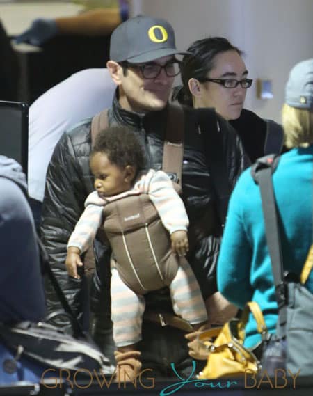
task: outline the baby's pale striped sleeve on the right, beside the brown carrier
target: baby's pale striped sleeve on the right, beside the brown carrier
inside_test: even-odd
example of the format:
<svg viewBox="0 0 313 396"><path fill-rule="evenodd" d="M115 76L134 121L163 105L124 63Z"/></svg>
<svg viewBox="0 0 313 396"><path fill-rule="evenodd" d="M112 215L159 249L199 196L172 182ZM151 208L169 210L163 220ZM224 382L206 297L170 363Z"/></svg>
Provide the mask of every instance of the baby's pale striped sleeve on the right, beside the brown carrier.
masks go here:
<svg viewBox="0 0 313 396"><path fill-rule="evenodd" d="M150 174L148 173L147 176ZM145 182L147 180L149 177ZM170 234L177 230L187 230L189 221L184 203L172 187L170 177L165 172L157 171L152 174L147 186L147 193L157 208L164 227Z"/></svg>

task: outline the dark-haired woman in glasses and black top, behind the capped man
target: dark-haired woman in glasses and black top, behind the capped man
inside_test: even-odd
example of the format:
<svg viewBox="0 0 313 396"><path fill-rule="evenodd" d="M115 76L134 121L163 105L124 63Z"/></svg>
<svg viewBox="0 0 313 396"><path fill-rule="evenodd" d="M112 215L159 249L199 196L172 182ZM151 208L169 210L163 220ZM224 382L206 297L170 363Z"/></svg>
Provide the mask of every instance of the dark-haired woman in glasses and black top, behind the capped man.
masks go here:
<svg viewBox="0 0 313 396"><path fill-rule="evenodd" d="M174 98L195 108L214 107L236 129L252 163L264 153L280 152L279 125L243 109L246 91L252 85L243 52L223 37L195 41L188 52L181 65L183 87ZM268 127L275 129L269 138Z"/></svg>

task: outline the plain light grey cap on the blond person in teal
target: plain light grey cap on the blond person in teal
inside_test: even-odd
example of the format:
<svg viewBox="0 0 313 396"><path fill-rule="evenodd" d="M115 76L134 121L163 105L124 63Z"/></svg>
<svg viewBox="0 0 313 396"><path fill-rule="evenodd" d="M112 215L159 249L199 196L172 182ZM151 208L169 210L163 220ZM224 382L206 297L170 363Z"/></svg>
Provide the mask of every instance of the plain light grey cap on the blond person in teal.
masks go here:
<svg viewBox="0 0 313 396"><path fill-rule="evenodd" d="M285 102L298 109L313 106L313 58L297 63L289 73Z"/></svg>

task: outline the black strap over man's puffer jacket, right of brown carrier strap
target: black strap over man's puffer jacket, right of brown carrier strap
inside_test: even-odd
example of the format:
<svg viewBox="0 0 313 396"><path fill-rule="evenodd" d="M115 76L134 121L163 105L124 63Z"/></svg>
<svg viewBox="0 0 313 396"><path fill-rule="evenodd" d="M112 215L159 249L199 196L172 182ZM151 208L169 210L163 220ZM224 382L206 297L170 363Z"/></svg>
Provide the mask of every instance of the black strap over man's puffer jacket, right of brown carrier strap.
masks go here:
<svg viewBox="0 0 313 396"><path fill-rule="evenodd" d="M224 225L231 189L228 183L225 159L223 158L223 139L220 134L220 126L213 109L197 109L196 111L214 190L219 200L217 207L220 222Z"/></svg>

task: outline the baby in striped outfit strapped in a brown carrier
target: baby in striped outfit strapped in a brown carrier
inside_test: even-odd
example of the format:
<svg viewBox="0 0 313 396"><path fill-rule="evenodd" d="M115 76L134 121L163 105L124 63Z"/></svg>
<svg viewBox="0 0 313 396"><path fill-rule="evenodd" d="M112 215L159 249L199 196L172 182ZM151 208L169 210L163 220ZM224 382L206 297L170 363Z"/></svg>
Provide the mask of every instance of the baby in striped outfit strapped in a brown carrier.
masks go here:
<svg viewBox="0 0 313 396"><path fill-rule="evenodd" d="M136 359L140 355L136 344L141 340L147 292L168 286L177 315L195 329L207 321L200 287L184 258L188 252L184 203L166 173L143 172L144 166L143 149L133 132L110 127L98 134L90 154L96 191L86 199L67 244L67 272L79 278L80 255L104 227L113 251L111 315L117 361L119 353L131 352Z"/></svg>

